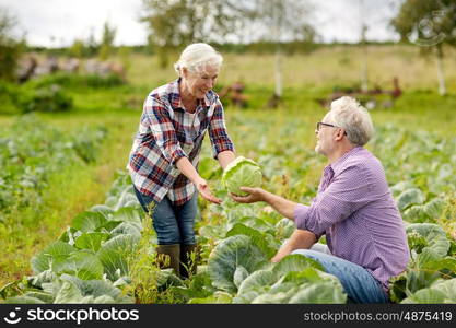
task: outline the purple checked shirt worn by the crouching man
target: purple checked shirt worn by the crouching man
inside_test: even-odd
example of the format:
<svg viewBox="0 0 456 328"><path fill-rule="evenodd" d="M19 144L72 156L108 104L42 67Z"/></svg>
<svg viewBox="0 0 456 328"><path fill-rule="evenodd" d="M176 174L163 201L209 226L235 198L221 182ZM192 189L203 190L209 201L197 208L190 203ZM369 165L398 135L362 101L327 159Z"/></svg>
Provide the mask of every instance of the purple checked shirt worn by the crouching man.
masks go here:
<svg viewBox="0 0 456 328"><path fill-rule="evenodd" d="M317 196L311 206L296 206L294 220L317 238L326 234L334 256L366 269L385 291L409 261L402 219L383 166L362 147L325 167Z"/></svg>

